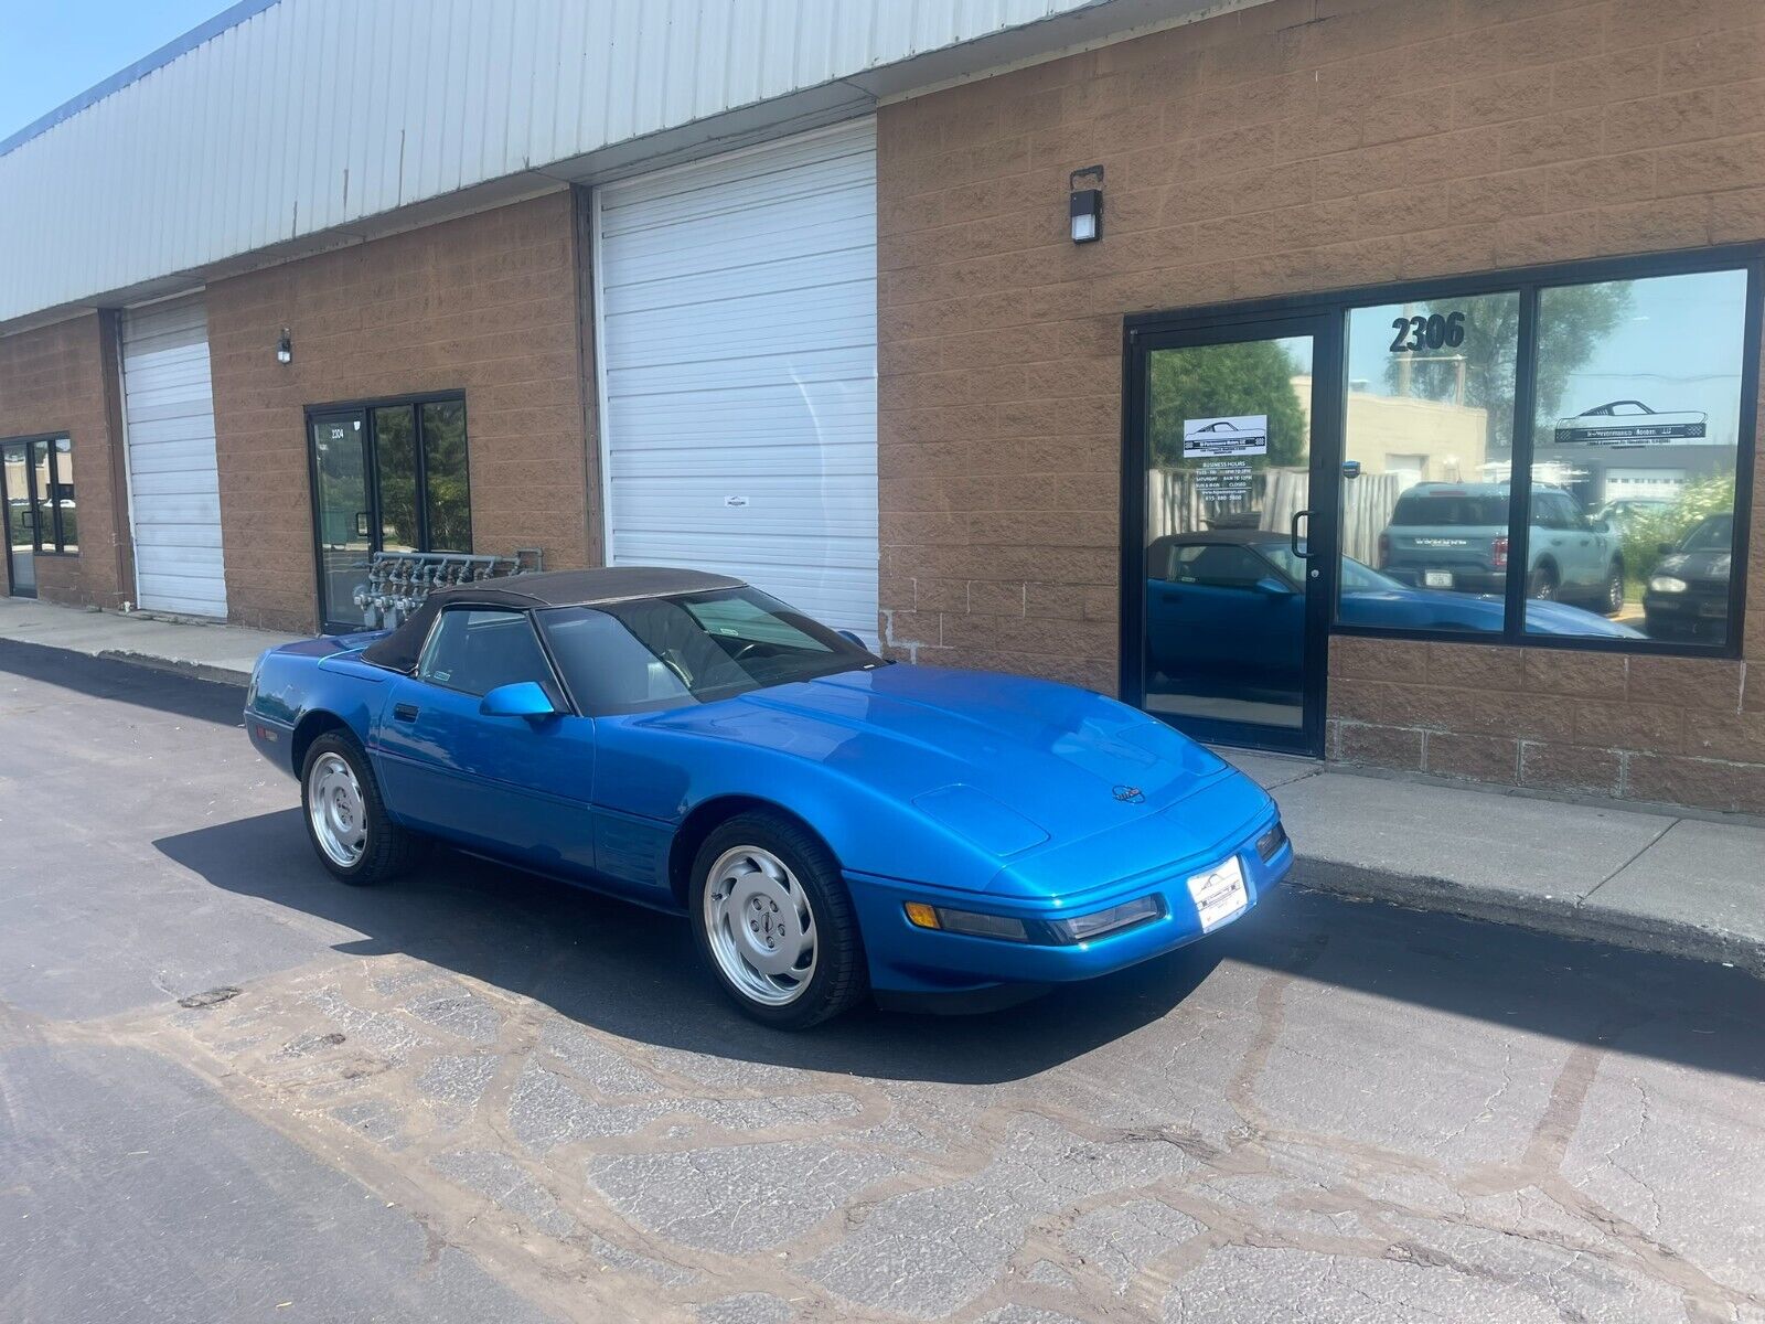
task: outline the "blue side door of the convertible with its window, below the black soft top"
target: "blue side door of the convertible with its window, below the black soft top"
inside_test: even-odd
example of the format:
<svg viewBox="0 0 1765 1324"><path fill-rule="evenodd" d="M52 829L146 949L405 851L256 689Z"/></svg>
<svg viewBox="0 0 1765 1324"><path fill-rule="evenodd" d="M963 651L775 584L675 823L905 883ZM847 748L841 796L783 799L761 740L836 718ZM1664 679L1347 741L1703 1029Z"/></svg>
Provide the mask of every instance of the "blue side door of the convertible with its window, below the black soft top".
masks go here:
<svg viewBox="0 0 1765 1324"><path fill-rule="evenodd" d="M489 717L491 690L533 681L560 713ZM531 618L452 607L376 722L387 807L462 846L563 874L595 867L595 722L567 701Z"/></svg>

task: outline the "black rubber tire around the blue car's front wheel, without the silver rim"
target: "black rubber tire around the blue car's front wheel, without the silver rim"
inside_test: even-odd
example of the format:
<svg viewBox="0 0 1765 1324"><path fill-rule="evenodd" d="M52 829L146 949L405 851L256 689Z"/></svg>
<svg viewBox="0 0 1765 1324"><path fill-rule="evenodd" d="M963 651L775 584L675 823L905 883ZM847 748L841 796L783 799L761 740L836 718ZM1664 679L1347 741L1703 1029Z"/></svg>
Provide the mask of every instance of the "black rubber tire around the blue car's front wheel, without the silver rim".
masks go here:
<svg viewBox="0 0 1765 1324"><path fill-rule="evenodd" d="M706 907L711 869L727 853L741 847L757 847L775 856L801 886L814 916L814 973L801 990L782 1006L762 1003L743 992L722 969L711 950L711 920ZM699 957L710 967L711 978L743 1015L764 1026L808 1029L851 1010L870 990L870 973L858 934L858 914L852 909L852 899L845 893L840 865L821 840L785 817L764 812L738 814L713 828L692 861L687 914L692 923L694 946L699 948Z"/></svg>

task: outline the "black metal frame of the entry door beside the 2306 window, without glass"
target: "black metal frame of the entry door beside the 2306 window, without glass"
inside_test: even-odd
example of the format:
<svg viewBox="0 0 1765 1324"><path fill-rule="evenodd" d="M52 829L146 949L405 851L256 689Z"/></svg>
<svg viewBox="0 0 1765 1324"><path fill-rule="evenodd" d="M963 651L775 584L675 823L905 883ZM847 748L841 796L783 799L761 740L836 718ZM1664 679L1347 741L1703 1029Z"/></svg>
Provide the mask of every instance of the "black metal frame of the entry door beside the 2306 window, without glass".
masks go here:
<svg viewBox="0 0 1765 1324"><path fill-rule="evenodd" d="M1197 740L1241 749L1324 757L1326 687L1329 676L1331 604L1336 584L1336 524L1343 434L1345 318L1334 311L1244 311L1135 320L1123 328L1123 464L1121 464L1121 634L1123 703L1145 710L1145 392L1153 350L1205 348L1244 341L1311 337L1310 487L1306 494L1306 616L1301 718L1297 727L1179 718L1153 713Z"/></svg>

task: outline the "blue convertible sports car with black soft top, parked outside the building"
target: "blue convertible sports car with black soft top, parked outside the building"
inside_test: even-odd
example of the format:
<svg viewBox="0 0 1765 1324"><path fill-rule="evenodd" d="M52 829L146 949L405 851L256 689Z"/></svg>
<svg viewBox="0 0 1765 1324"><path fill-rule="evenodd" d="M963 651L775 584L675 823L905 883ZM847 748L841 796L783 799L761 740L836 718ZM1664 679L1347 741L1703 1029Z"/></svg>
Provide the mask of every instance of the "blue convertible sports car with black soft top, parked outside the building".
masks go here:
<svg viewBox="0 0 1765 1324"><path fill-rule="evenodd" d="M1292 865L1255 782L1133 708L895 666L685 570L494 579L275 648L245 729L344 883L439 839L685 914L782 1027L1121 969Z"/></svg>

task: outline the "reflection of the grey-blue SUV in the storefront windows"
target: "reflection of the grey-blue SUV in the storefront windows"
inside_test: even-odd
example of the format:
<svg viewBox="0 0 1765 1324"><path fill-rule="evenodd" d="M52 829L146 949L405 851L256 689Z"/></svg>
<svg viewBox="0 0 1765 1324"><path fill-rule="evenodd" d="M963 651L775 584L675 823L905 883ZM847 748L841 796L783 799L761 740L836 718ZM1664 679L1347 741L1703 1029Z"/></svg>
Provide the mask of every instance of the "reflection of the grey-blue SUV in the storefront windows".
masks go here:
<svg viewBox="0 0 1765 1324"><path fill-rule="evenodd" d="M1534 484L1527 597L1624 609L1619 535L1590 521L1562 487ZM1507 588L1507 484L1419 482L1378 535L1380 568L1417 588L1502 593Z"/></svg>

